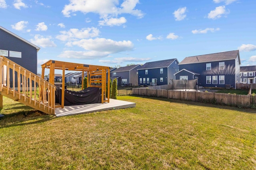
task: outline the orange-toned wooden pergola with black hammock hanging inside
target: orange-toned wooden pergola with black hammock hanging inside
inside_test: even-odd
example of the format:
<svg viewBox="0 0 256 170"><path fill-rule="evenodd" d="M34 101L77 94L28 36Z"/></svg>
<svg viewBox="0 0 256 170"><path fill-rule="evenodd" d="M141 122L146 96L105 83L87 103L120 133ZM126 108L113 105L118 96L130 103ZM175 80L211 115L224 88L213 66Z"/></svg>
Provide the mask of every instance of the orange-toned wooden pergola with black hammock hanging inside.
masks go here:
<svg viewBox="0 0 256 170"><path fill-rule="evenodd" d="M107 96L110 96L110 89L106 90L106 82L108 82L108 87L110 82L110 67L108 66L96 66L96 65L88 65L88 64L78 64L78 63L68 63L63 61L54 61L49 60L46 63L42 64L42 78L44 78L45 68L50 69L49 82L54 84L54 70L62 70L62 88L65 87L65 70L69 71L82 71L82 87L84 86L84 72L87 71L87 87L99 87L102 90L102 103L108 102L109 97L106 100ZM106 76L106 72L108 73L108 77ZM107 79L108 78L108 79ZM64 108L64 90L62 90L62 103L61 107ZM60 106L56 106L60 107Z"/></svg>

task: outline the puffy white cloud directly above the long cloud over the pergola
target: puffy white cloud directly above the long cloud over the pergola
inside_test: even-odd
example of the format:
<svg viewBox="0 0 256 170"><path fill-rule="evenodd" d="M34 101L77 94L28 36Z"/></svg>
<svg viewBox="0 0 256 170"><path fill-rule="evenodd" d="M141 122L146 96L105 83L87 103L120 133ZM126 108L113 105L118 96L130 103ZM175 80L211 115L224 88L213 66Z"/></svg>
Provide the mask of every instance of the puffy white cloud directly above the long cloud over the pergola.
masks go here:
<svg viewBox="0 0 256 170"><path fill-rule="evenodd" d="M72 28L69 31L60 31L61 35L57 35L56 38L61 41L72 41L77 39L85 39L91 37L97 37L100 33L99 29L95 27L82 28L81 30Z"/></svg>

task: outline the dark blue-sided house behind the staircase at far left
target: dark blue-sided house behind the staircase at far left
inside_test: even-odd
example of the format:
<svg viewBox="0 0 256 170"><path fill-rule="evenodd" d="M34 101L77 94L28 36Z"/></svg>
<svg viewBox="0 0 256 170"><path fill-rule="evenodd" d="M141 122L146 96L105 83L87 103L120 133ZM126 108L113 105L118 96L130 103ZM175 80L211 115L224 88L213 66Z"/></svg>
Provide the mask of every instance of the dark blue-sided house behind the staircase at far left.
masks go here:
<svg viewBox="0 0 256 170"><path fill-rule="evenodd" d="M39 47L1 26L0 39L0 55L37 74L37 52L40 50ZM4 79L6 80L6 78ZM12 71L10 72L10 81L12 81Z"/></svg>

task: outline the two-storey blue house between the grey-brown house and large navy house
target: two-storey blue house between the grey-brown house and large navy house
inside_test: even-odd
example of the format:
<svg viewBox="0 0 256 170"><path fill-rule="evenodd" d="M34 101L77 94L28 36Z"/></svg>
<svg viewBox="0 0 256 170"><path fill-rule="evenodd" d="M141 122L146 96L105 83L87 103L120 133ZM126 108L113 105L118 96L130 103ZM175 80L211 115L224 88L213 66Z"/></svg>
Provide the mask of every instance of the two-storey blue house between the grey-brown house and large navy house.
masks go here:
<svg viewBox="0 0 256 170"><path fill-rule="evenodd" d="M139 85L156 86L171 84L174 73L179 71L179 61L168 59L145 63L138 68Z"/></svg>

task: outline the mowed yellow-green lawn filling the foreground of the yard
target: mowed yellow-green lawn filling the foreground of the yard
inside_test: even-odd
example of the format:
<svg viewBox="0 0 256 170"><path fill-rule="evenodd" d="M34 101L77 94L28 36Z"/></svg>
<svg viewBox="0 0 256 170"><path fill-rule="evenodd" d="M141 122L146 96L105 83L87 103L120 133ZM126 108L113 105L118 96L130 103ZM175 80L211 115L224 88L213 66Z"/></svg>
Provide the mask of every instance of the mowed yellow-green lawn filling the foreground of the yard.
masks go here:
<svg viewBox="0 0 256 170"><path fill-rule="evenodd" d="M118 99L136 107L54 117L4 98L0 169L256 169L255 110Z"/></svg>

